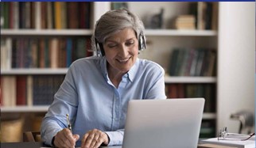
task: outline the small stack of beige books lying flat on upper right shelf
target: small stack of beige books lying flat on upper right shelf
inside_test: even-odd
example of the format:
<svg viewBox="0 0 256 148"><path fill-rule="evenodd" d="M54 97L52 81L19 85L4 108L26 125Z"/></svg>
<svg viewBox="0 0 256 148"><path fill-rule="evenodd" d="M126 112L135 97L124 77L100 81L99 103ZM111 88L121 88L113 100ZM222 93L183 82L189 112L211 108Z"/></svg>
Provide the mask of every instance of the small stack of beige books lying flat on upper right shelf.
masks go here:
<svg viewBox="0 0 256 148"><path fill-rule="evenodd" d="M176 29L196 29L196 17L193 15L180 15L176 17Z"/></svg>

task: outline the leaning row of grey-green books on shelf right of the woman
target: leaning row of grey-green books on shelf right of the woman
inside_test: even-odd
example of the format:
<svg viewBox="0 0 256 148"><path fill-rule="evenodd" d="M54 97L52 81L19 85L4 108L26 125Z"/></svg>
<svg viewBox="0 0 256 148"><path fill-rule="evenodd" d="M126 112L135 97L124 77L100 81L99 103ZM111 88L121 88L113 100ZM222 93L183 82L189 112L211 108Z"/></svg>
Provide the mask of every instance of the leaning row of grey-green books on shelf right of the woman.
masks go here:
<svg viewBox="0 0 256 148"><path fill-rule="evenodd" d="M216 56L214 49L173 49L169 75L215 76Z"/></svg>

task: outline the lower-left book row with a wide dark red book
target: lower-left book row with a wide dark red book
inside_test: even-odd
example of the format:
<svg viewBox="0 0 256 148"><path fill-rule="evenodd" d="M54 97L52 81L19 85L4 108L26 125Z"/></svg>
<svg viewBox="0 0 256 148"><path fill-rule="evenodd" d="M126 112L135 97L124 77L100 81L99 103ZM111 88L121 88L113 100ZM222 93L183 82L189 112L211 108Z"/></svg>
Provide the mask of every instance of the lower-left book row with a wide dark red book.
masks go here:
<svg viewBox="0 0 256 148"><path fill-rule="evenodd" d="M64 75L2 76L1 105L48 105L60 88Z"/></svg>

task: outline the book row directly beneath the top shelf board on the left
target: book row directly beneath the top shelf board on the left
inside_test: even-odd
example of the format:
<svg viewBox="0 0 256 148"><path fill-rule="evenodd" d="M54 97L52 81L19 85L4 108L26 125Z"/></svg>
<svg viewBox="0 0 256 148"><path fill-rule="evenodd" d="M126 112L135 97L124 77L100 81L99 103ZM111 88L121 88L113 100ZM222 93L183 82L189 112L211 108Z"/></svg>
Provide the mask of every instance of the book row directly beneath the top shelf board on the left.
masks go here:
<svg viewBox="0 0 256 148"><path fill-rule="evenodd" d="M1 69L68 67L93 55L90 38L1 39Z"/></svg>

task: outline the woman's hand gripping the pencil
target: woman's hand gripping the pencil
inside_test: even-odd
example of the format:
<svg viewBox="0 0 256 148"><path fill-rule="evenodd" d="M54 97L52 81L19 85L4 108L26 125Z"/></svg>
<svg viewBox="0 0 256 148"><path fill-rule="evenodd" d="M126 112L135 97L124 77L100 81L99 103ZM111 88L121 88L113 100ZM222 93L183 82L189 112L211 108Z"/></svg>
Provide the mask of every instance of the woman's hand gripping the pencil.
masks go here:
<svg viewBox="0 0 256 148"><path fill-rule="evenodd" d="M80 135L72 135L68 128L57 132L53 141L54 146L60 148L71 148L76 146L76 141L80 139Z"/></svg>

